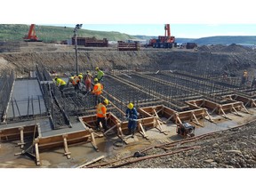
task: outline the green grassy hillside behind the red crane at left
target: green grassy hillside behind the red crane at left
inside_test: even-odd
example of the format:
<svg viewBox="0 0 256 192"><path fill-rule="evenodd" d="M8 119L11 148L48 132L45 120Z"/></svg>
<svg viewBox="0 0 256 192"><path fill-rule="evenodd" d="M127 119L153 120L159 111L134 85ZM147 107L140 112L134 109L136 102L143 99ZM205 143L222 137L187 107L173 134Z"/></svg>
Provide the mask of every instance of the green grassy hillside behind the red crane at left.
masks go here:
<svg viewBox="0 0 256 192"><path fill-rule="evenodd" d="M1 24L0 41L23 41L22 37L28 35L29 28L30 25ZM36 36L45 43L60 42L72 38L72 36L74 36L74 28L36 25ZM95 36L97 39L107 38L108 41L125 41L127 39L134 38L134 36L129 36L119 32L94 31L86 29L79 29L77 36Z"/></svg>

